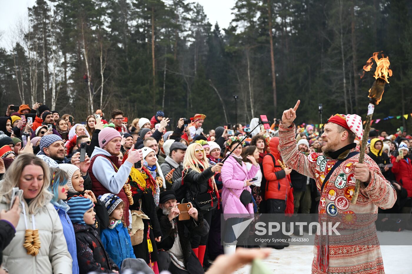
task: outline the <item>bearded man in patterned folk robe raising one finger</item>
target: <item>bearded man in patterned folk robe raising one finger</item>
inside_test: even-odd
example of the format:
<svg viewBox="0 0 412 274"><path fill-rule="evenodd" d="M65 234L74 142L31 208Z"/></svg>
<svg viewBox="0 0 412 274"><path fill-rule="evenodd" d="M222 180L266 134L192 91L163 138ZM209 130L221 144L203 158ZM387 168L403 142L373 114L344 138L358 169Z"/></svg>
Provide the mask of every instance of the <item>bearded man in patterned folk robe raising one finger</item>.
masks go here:
<svg viewBox="0 0 412 274"><path fill-rule="evenodd" d="M363 164L358 163L359 150L353 141L355 137L362 140L361 117L332 115L321 136L323 153L302 153L296 146L293 123L299 104L300 100L293 109L283 111L279 125L282 157L289 167L316 180L321 194L319 222L342 221L337 230L347 229L343 232L350 235L345 239L351 241L325 236L326 231L316 233L312 273L384 273L375 220L378 207L393 207L396 191L368 155ZM356 179L361 188L356 204L351 204ZM354 239L363 240L356 244Z"/></svg>

